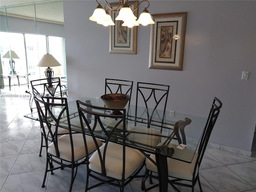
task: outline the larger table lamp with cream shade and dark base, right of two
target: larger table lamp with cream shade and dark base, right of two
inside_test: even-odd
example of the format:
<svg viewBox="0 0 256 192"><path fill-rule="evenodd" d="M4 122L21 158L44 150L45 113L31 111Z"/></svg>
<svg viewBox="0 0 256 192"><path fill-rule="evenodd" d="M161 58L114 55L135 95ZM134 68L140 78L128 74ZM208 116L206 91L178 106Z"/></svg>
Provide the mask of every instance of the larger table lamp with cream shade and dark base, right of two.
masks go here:
<svg viewBox="0 0 256 192"><path fill-rule="evenodd" d="M52 56L51 54L44 54L44 56L41 58L39 63L37 64L39 67L47 67L45 69L45 76L46 78L52 78L53 77L53 70L50 67L56 67L56 66L61 66L61 64ZM52 80L48 79L48 88L54 88L52 86Z"/></svg>

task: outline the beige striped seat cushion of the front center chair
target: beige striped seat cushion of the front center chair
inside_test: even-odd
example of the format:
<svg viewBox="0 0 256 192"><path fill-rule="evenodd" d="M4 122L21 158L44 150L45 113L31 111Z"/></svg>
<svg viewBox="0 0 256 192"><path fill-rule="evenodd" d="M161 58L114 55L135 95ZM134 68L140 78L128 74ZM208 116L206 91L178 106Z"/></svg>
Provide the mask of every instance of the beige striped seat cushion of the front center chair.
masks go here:
<svg viewBox="0 0 256 192"><path fill-rule="evenodd" d="M105 144L100 147L103 155ZM125 174L127 179L131 176L144 162L145 156L139 151L129 147L125 148ZM123 146L120 144L109 142L106 149L106 176L122 179L123 172ZM98 152L94 152L89 159L89 168L95 172L102 173Z"/></svg>

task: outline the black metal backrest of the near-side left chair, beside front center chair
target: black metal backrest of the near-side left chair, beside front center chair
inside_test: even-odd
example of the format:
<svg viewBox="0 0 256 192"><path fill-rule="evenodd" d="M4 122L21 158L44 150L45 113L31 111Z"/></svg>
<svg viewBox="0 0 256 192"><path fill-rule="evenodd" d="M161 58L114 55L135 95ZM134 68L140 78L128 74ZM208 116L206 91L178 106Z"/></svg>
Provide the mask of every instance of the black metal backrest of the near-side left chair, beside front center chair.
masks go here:
<svg viewBox="0 0 256 192"><path fill-rule="evenodd" d="M50 100L54 99L54 102ZM38 110L38 116L40 120L40 126L44 133L44 138L46 142L46 150L48 149L48 139L45 127L47 126L49 134L54 143L56 150L56 157L60 158L59 148L58 148L58 128L60 126L65 126L69 130L70 134L70 144L72 158L74 160L74 147L71 134L70 118L68 112L67 98L52 98L52 97L35 97L36 108ZM54 108L53 108L54 107Z"/></svg>

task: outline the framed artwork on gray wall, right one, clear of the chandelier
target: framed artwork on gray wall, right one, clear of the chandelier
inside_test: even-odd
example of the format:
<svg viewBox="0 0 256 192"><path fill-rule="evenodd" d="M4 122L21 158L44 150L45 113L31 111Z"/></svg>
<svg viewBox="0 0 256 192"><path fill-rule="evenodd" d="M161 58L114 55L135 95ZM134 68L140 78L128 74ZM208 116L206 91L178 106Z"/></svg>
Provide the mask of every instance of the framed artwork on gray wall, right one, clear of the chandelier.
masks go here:
<svg viewBox="0 0 256 192"><path fill-rule="evenodd" d="M149 68L182 71L187 12L153 14L152 18Z"/></svg>

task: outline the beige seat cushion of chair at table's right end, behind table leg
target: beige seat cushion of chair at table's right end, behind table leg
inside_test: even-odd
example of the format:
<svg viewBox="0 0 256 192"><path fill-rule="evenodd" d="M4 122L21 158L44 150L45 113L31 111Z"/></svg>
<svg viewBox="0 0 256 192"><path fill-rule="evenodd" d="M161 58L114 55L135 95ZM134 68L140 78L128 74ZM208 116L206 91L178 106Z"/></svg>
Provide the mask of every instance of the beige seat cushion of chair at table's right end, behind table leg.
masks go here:
<svg viewBox="0 0 256 192"><path fill-rule="evenodd" d="M167 158L168 176L186 179L186 180L192 180L197 157L198 157L198 154L195 153L191 163L186 163L186 162L175 160L172 158ZM154 154L151 154L150 158L152 158L152 160L156 162L156 156ZM156 173L158 172L157 167L148 159L146 160L146 168L153 172L156 172ZM197 173L198 173L198 166L196 168L196 174Z"/></svg>

